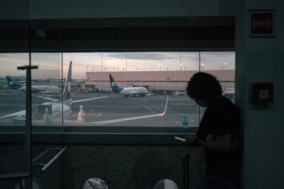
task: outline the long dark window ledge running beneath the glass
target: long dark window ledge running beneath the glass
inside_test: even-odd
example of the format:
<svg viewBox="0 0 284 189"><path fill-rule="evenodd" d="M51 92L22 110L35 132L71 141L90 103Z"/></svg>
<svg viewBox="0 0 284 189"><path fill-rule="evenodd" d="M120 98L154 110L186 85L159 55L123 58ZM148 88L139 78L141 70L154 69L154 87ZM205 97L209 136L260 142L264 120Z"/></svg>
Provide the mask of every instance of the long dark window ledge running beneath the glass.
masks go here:
<svg viewBox="0 0 284 189"><path fill-rule="evenodd" d="M185 137L180 128L60 128L62 131L47 131L39 128L33 133L34 143L60 143L60 144L175 144L184 145L184 142L174 139L174 136ZM117 132L119 130L121 132ZM197 127L191 127L191 134L195 134ZM12 130L12 128L11 128ZM123 131L123 132L122 132ZM140 132L137 132L140 131ZM143 131L143 132L142 132ZM146 132L147 131L147 132ZM152 132L150 132L152 131ZM2 131L0 132L0 143L23 143L25 132Z"/></svg>

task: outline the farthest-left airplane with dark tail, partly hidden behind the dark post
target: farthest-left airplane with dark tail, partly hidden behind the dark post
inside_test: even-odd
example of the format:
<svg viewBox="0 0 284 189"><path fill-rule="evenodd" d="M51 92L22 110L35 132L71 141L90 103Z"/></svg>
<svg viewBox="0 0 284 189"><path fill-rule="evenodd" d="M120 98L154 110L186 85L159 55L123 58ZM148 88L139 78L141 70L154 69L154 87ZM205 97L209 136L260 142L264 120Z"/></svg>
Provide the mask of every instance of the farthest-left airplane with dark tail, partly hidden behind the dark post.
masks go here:
<svg viewBox="0 0 284 189"><path fill-rule="evenodd" d="M10 88L25 92L25 85L15 84L9 76L6 77ZM32 92L60 92L60 88L58 86L32 86Z"/></svg>

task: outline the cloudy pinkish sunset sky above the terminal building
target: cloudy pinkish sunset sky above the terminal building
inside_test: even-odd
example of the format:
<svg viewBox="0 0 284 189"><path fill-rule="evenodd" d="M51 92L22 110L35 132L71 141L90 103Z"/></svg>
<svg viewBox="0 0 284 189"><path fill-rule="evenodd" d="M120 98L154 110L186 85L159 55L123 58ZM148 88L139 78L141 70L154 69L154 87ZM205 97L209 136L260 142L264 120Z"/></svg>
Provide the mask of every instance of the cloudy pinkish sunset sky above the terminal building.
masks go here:
<svg viewBox="0 0 284 189"><path fill-rule="evenodd" d="M198 71L235 69L235 52L119 52L119 53L63 53L63 77L66 77L69 62L73 62L73 79L85 79L86 71ZM126 61L127 57L127 61ZM29 62L28 53L1 53L0 77L25 75L16 66ZM49 70L38 79L60 78L61 53L32 53L32 62L40 70ZM127 62L127 64L126 64ZM182 64L180 66L180 63ZM87 68L88 67L88 68ZM42 72L40 72L42 73ZM45 73L45 72L43 72ZM36 78L34 78L36 79Z"/></svg>

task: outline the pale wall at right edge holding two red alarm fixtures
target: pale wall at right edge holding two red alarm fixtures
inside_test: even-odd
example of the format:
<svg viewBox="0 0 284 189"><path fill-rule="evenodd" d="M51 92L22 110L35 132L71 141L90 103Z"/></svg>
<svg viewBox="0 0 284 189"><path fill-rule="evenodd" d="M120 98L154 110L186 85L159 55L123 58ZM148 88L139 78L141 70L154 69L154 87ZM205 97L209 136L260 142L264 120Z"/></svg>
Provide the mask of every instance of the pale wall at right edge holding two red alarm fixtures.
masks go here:
<svg viewBox="0 0 284 189"><path fill-rule="evenodd" d="M283 1L237 1L236 103L242 110L244 188L283 188L284 179L284 6ZM248 38L248 9L276 9L276 38ZM256 110L249 84L272 82L274 103Z"/></svg>

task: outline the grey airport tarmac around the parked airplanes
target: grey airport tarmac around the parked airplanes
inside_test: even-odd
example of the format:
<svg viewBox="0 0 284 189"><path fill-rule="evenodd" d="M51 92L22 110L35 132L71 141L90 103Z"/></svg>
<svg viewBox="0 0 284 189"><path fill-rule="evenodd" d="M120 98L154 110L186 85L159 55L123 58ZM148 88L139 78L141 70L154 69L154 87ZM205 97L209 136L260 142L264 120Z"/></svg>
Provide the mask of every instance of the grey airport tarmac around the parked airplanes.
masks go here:
<svg viewBox="0 0 284 189"><path fill-rule="evenodd" d="M43 96L43 95L41 95ZM46 95L46 97L60 98L60 95ZM63 119L76 121L80 105L83 105L86 116L85 123L93 121L106 121L117 118L129 118L133 116L144 116L150 114L159 114L165 110L167 95L155 95L153 97L123 97L114 93L81 93L71 92L73 100L90 99L94 97L108 96L104 99L95 99L84 101L82 103L73 103L71 114L64 116ZM49 102L45 99L39 99L35 94L32 95L33 104ZM0 116L12 114L25 110L25 94L21 92L1 92L0 94ZM108 123L105 126L122 127L182 127L182 117L187 116L189 127L198 127L199 107L187 96L169 95L167 112L164 116L143 118L132 121L122 121L117 123ZM13 124L11 121L10 125ZM66 122L67 123L67 122ZM7 121L0 121L0 125L7 125ZM60 121L58 121L60 124ZM77 125L77 124L75 124ZM64 124L63 126L68 126ZM78 126L84 126L84 123L78 122ZM104 126L104 125L100 125Z"/></svg>

